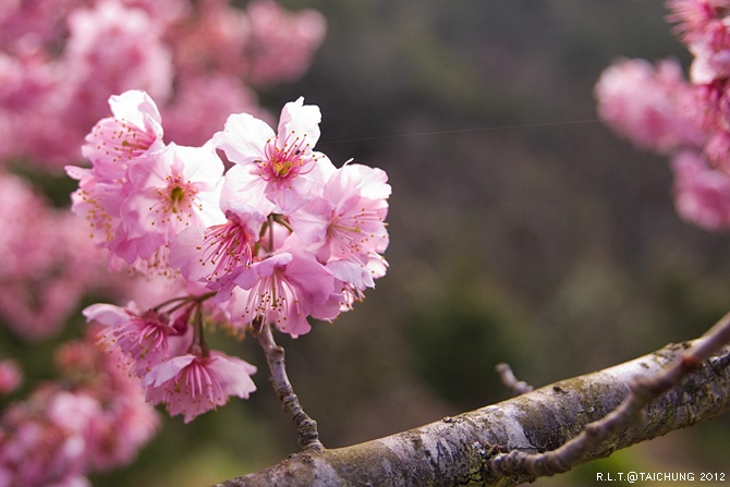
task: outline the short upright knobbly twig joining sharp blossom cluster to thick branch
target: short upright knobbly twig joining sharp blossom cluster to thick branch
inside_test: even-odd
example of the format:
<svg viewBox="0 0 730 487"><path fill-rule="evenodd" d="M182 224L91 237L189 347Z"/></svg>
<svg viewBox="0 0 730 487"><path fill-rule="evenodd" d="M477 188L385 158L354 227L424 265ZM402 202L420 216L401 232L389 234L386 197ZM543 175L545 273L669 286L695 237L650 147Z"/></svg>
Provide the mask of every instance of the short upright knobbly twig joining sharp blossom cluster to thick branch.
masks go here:
<svg viewBox="0 0 730 487"><path fill-rule="evenodd" d="M269 364L269 383L279 395L284 413L296 425L300 447L302 447L302 450L324 450L325 446L319 441L317 422L304 412L289 381L284 364L284 349L273 341L271 327L258 322L254 327L254 334L261 349L264 349L266 361Z"/></svg>

